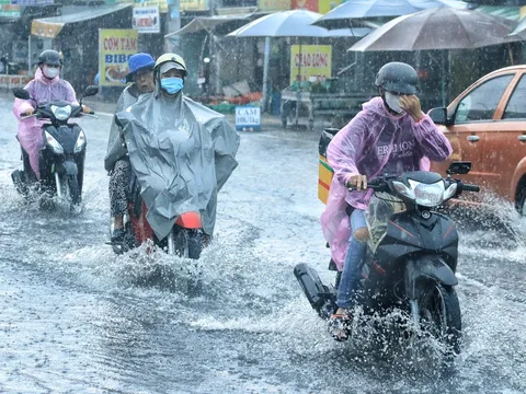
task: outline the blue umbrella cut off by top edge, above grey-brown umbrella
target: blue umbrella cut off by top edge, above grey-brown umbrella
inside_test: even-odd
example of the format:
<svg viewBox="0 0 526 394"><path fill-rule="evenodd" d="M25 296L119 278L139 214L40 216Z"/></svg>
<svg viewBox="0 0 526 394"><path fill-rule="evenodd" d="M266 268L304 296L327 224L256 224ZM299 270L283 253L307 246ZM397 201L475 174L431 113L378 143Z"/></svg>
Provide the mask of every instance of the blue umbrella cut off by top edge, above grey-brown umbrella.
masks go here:
<svg viewBox="0 0 526 394"><path fill-rule="evenodd" d="M313 24L325 28L342 28L356 23L364 24L364 20L407 15L442 7L466 9L467 5L456 0L348 0Z"/></svg>

